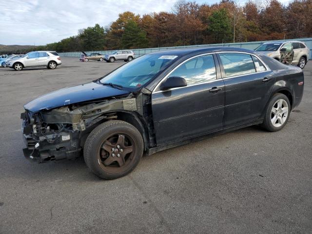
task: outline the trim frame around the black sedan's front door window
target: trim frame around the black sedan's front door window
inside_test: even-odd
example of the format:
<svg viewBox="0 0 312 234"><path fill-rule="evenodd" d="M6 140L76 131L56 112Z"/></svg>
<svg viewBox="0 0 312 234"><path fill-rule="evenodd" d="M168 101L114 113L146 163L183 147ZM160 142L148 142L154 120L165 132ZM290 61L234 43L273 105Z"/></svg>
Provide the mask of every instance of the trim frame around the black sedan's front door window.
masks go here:
<svg viewBox="0 0 312 234"><path fill-rule="evenodd" d="M215 52L210 52L210 53L205 53L205 54L200 54L200 55L195 55L191 58L188 58L186 60L184 60L183 62L179 63L178 65L176 65L176 67L174 67L164 78L162 78L158 84L155 86L155 88L153 89L153 94L156 94L156 93L161 93L161 92L167 92L167 91L170 91L170 90L175 90L175 89L183 89L183 88L187 88L187 87L190 87L190 86L195 86L195 85L200 85L200 84L206 84L206 83L210 83L212 81L215 81L215 80L218 80L218 63L216 63L217 61L215 60L215 56L214 56ZM201 56L205 56L205 55L212 55L213 56L213 59L214 59L214 62L215 62L215 79L212 79L212 80L208 80L208 81L205 81L205 82L201 82L201 83L197 83L197 84L190 84L190 85L187 85L187 86L184 86L184 87L177 87L177 88L172 88L172 89L168 89L168 90L158 90L158 87L161 85L161 83L163 81L165 81L178 67L180 67L182 64L188 62L189 60L191 59L195 59L197 57L201 57Z"/></svg>

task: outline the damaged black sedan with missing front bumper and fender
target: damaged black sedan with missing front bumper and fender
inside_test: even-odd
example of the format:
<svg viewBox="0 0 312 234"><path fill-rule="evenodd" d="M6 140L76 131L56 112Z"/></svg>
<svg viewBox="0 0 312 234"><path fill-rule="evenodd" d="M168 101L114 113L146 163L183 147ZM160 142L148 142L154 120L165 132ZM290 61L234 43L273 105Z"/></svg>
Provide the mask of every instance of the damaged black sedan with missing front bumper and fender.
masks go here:
<svg viewBox="0 0 312 234"><path fill-rule="evenodd" d="M24 106L27 159L83 153L99 177L130 173L143 153L254 124L282 129L303 95L303 72L241 48L169 50Z"/></svg>

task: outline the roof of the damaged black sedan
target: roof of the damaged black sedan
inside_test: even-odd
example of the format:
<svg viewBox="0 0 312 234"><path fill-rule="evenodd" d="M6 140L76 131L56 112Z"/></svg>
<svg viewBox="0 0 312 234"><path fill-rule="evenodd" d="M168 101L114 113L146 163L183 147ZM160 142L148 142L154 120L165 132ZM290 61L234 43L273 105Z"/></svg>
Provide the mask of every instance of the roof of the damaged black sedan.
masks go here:
<svg viewBox="0 0 312 234"><path fill-rule="evenodd" d="M151 54L154 55L186 55L186 54L198 54L198 53L213 53L213 52L227 52L227 51L237 51L237 52L246 52L251 54L258 54L254 50L248 50L244 48L237 48L237 47L195 47L195 48L187 48L187 49L174 49L174 50L164 50L164 51L157 51Z"/></svg>

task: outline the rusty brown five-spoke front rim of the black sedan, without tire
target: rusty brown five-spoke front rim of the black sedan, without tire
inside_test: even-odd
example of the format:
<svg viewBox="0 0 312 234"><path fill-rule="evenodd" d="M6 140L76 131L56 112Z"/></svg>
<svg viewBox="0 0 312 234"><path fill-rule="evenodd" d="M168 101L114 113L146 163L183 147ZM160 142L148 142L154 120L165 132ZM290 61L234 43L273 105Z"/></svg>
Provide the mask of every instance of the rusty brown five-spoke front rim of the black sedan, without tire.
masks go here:
<svg viewBox="0 0 312 234"><path fill-rule="evenodd" d="M135 140L126 133L105 139L98 150L99 166L110 173L123 172L136 154Z"/></svg>

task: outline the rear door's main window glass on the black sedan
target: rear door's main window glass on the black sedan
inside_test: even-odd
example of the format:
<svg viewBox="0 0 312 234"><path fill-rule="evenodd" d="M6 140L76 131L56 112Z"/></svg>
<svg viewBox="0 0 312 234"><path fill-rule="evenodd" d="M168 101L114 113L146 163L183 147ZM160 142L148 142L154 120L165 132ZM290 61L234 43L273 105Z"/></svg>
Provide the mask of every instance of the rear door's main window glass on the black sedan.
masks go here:
<svg viewBox="0 0 312 234"><path fill-rule="evenodd" d="M251 55L220 53L219 56L224 68L225 77L234 77L256 72Z"/></svg>

